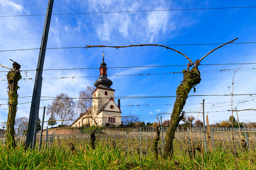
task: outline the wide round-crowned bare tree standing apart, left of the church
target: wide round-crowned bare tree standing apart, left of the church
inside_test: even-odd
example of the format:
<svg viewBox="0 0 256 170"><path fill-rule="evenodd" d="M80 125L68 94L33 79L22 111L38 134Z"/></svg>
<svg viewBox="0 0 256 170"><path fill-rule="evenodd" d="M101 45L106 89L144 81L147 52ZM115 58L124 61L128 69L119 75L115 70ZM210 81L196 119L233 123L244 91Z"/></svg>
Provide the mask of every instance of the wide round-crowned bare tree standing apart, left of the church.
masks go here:
<svg viewBox="0 0 256 170"><path fill-rule="evenodd" d="M46 115L52 114L61 120L69 119L75 114L75 107L74 100L70 99L68 94L61 93L52 101L52 105L47 106ZM63 121L61 121L61 125L63 125Z"/></svg>

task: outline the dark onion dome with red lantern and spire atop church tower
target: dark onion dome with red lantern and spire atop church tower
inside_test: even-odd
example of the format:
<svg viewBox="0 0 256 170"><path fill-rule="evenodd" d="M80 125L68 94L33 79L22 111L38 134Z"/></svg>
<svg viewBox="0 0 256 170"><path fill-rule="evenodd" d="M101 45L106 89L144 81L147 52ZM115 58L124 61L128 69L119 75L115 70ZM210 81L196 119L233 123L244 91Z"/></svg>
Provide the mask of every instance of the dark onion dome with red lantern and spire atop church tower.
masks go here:
<svg viewBox="0 0 256 170"><path fill-rule="evenodd" d="M104 54L103 54L103 59L102 59L102 63L100 63L100 78L98 78L95 82L94 82L94 86L95 87L99 87L99 86L103 86L105 88L110 88L110 86L113 84L113 82L111 80L109 80L107 78L107 67L106 67L106 63L104 62Z"/></svg>

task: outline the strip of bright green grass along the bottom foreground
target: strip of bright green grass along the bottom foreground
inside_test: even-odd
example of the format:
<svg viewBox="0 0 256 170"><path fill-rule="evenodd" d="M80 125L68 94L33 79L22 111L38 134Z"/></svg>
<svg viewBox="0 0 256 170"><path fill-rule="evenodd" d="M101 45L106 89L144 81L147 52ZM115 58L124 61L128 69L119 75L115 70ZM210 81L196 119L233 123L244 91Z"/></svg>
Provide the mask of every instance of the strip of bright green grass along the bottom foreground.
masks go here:
<svg viewBox="0 0 256 170"><path fill-rule="evenodd" d="M84 148L76 148L75 151L69 151L63 148L48 148L47 150L24 150L23 147L18 147L15 150L0 148L0 169L10 170L164 170L164 169L236 169L235 157L230 151L225 151L220 147L214 153L197 153L195 159L190 159L188 156L175 155L172 159L154 160L147 157L138 159L138 155L128 157L126 160L124 152L120 152L120 148L112 149L112 146L96 146L92 150L89 146ZM255 169L256 154L251 151L241 152L238 159L238 169ZM203 158L203 159L202 159ZM202 161L203 160L203 161ZM254 166L254 167L253 167Z"/></svg>

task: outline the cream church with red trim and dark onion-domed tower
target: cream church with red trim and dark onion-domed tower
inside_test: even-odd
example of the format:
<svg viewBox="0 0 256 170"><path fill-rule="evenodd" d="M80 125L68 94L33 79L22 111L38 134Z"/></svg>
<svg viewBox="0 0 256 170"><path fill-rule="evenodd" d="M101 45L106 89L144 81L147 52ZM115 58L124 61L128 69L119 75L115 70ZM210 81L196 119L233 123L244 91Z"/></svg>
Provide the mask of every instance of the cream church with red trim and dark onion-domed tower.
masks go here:
<svg viewBox="0 0 256 170"><path fill-rule="evenodd" d="M113 82L107 78L107 67L104 62L104 54L102 63L100 64L100 78L94 82L96 89L92 92L92 107L87 111L89 116L92 116L97 122L98 126L106 125L121 125L121 110L120 100L116 105L114 101L114 92L110 86ZM80 127L85 123L90 126L95 125L92 118L86 118L87 113L81 113L79 118L71 124L72 127ZM118 116L118 117L115 117ZM107 123L107 124L106 124Z"/></svg>

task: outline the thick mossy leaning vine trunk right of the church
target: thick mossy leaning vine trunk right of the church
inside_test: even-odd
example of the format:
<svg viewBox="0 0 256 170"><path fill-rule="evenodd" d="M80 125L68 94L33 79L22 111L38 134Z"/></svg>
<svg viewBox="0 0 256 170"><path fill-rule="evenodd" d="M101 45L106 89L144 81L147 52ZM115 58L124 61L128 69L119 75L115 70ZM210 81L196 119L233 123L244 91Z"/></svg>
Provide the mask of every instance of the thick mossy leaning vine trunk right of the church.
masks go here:
<svg viewBox="0 0 256 170"><path fill-rule="evenodd" d="M178 123L183 119L183 116L184 116L184 112L181 113L181 111L186 104L188 93L190 92L192 87L195 87L201 81L200 72L197 66L198 64L195 64L190 71L189 70L182 71L183 81L176 90L177 97L172 110L171 124L169 126L169 129L166 132L164 155L163 155L164 158L173 156L172 142L175 135L175 129L177 128Z"/></svg>

